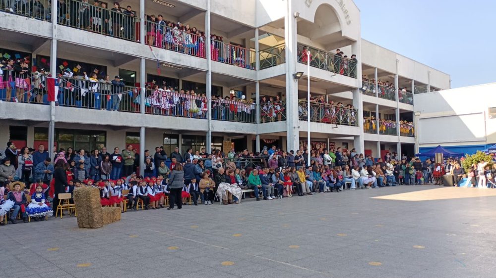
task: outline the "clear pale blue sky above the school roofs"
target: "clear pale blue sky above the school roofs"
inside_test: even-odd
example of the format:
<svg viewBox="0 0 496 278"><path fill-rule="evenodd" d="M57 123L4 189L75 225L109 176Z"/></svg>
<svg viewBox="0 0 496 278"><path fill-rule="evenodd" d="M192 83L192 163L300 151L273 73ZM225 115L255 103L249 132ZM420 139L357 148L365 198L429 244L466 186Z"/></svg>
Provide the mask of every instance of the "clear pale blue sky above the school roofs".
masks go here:
<svg viewBox="0 0 496 278"><path fill-rule="evenodd" d="M354 0L362 38L451 75L451 88L496 82L496 1Z"/></svg>

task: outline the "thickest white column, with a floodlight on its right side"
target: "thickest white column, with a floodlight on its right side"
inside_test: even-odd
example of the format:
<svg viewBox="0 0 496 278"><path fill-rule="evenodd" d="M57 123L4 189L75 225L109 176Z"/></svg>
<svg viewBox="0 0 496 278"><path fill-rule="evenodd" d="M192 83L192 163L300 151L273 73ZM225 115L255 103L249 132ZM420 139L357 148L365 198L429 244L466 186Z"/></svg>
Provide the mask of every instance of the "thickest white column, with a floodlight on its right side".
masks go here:
<svg viewBox="0 0 496 278"><path fill-rule="evenodd" d="M293 13L293 0L286 2L284 17L284 43L286 46L286 118L288 150L296 152L300 147L299 120L298 120L298 80L293 78L297 63L297 33L296 18Z"/></svg>

